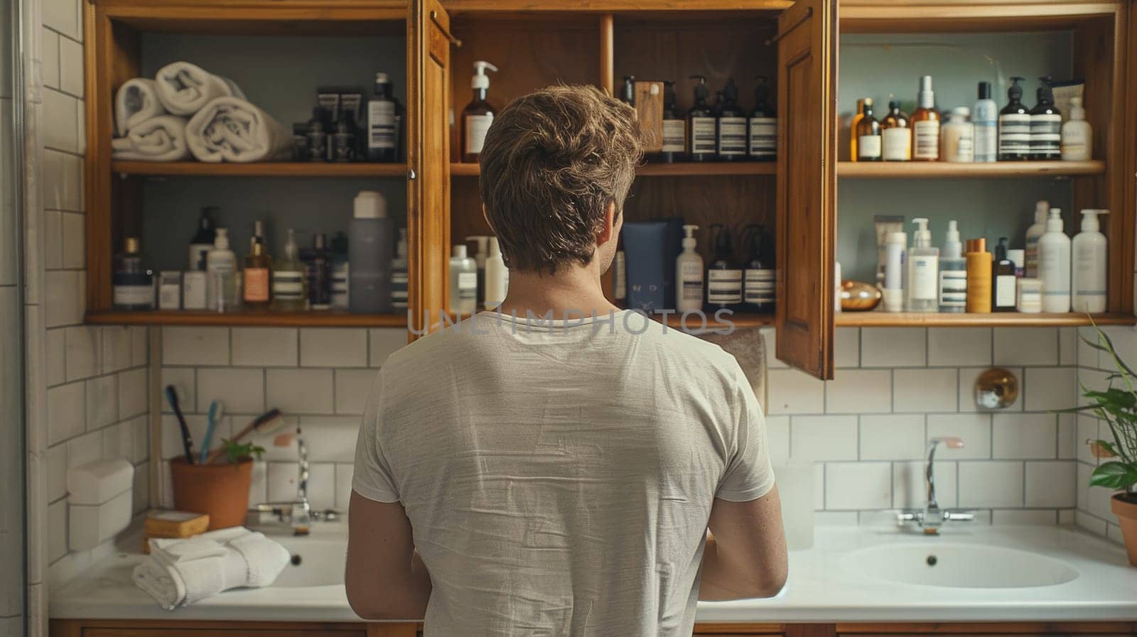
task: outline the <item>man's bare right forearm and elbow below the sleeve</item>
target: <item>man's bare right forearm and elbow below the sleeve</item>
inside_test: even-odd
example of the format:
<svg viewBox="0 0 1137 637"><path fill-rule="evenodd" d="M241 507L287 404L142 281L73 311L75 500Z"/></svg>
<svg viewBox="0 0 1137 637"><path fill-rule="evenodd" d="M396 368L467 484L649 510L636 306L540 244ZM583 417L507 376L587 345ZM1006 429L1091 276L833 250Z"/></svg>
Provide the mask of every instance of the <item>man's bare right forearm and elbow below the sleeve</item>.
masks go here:
<svg viewBox="0 0 1137 637"><path fill-rule="evenodd" d="M699 600L772 597L786 585L789 560L775 486L749 502L715 498L707 522Z"/></svg>

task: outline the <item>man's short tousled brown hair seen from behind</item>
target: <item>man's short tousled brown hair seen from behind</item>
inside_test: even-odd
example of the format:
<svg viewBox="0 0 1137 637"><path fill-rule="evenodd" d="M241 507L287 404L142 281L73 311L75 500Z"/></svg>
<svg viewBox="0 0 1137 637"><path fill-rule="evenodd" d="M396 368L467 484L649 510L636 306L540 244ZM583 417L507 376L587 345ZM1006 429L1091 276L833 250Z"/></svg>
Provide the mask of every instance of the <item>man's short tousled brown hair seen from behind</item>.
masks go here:
<svg viewBox="0 0 1137 637"><path fill-rule="evenodd" d="M642 158L630 106L594 86L549 86L509 102L481 152L485 215L509 268L588 265L605 210L617 215Z"/></svg>

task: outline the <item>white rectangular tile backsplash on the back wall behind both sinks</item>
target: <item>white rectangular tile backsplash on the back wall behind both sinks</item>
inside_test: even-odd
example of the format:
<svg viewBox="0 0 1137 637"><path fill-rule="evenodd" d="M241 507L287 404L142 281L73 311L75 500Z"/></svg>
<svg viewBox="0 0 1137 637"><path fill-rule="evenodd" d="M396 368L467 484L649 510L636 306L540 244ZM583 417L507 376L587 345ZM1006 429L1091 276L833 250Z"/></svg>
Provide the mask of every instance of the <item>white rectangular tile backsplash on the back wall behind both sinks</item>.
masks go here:
<svg viewBox="0 0 1137 637"><path fill-rule="evenodd" d="M840 328L836 377L821 382L778 361L767 328L763 404L773 459L815 461L820 520L855 523L922 505L927 439L957 435L965 446L939 453L941 504L979 509L984 521L1072 521L1086 491L1078 460L1086 436L1073 416L1049 410L1077 400L1077 332ZM277 406L308 441L313 503L347 506L359 414L376 368L405 343L402 330L167 327L161 342L163 383L179 387L196 437L211 399L225 403L223 435ZM993 364L1020 382L1019 399L1005 410L974 403L976 377ZM181 450L168 405L163 410L168 459ZM252 502L296 495L296 449L273 447L268 438ZM1093 523L1104 534L1112 519L1102 512L1106 495L1089 497L1096 508L1078 516L1101 518Z"/></svg>

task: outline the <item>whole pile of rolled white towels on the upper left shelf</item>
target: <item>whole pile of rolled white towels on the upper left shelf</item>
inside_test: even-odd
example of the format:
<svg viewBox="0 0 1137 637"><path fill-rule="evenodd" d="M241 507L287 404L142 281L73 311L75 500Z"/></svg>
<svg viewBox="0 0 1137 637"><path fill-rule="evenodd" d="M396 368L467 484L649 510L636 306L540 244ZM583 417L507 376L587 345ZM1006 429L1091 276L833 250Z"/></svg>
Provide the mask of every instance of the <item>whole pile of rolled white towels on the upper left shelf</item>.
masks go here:
<svg viewBox="0 0 1137 637"><path fill-rule="evenodd" d="M273 161L291 152L292 132L246 101L240 86L186 61L115 93L111 156L127 161Z"/></svg>

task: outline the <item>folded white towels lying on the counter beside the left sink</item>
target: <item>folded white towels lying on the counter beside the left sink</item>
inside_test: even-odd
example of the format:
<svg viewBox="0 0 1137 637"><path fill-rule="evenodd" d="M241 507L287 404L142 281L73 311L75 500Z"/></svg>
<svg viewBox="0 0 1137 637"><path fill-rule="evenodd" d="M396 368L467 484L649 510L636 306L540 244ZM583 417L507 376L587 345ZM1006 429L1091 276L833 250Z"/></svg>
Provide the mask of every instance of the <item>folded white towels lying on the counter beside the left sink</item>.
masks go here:
<svg viewBox="0 0 1137 637"><path fill-rule="evenodd" d="M189 539L151 539L150 556L134 567L134 584L172 611L223 590L268 586L290 560L288 550L242 527Z"/></svg>

